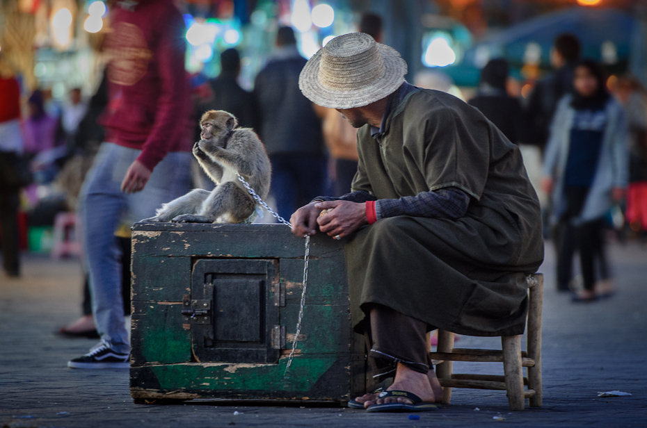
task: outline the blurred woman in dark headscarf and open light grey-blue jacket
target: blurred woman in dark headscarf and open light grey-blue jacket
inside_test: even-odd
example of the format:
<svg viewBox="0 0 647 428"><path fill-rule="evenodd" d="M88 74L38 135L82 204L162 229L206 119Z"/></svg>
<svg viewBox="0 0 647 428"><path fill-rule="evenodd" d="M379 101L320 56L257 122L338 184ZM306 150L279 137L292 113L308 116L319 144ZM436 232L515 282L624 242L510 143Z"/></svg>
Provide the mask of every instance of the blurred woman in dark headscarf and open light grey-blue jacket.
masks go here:
<svg viewBox="0 0 647 428"><path fill-rule="evenodd" d="M568 290L577 249L584 290L575 301L611 292L595 289L595 259L605 263L604 217L628 183L627 120L605 83L597 63L578 63L573 94L559 101L546 147L543 188L552 193L552 221L557 222L557 286Z"/></svg>

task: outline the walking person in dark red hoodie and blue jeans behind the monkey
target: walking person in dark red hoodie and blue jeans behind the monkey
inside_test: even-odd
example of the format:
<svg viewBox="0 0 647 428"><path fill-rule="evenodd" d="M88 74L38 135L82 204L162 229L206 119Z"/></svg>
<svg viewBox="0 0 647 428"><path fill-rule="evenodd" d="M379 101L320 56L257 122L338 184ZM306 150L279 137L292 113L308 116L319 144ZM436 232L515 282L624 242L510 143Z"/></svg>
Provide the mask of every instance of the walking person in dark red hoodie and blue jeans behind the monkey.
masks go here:
<svg viewBox="0 0 647 428"><path fill-rule="evenodd" d="M191 101L184 20L173 0L115 3L106 36L109 104L102 143L81 190L85 263L101 342L71 368L127 368L120 224L154 215L191 187ZM163 31L159 29L163 28Z"/></svg>

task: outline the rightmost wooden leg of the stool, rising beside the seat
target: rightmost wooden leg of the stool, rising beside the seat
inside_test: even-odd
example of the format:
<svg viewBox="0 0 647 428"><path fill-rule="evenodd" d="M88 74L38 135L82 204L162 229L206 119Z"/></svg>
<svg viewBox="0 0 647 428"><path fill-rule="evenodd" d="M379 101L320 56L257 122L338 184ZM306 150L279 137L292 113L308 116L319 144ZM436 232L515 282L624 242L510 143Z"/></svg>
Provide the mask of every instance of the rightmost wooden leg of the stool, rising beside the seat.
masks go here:
<svg viewBox="0 0 647 428"><path fill-rule="evenodd" d="M543 275L534 274L536 282L530 288L528 308L528 356L535 361L534 367L528 370L528 388L535 390L530 397L531 407L541 407L541 307L543 302Z"/></svg>

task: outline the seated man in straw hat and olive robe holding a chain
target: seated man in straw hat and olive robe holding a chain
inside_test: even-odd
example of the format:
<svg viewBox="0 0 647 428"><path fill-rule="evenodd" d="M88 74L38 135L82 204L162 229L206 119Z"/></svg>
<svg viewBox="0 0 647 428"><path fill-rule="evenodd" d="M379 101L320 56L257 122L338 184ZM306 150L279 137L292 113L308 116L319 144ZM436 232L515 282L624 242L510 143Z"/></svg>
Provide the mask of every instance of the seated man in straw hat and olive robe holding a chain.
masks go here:
<svg viewBox="0 0 647 428"><path fill-rule="evenodd" d="M352 33L326 44L299 80L307 98L359 128L351 193L319 197L291 223L298 236L348 237L353 326L376 377L394 376L387 391L349 403L368 411L434 408L442 391L427 331L522 334L525 277L543 261L518 147L476 108L404 74L394 49Z"/></svg>

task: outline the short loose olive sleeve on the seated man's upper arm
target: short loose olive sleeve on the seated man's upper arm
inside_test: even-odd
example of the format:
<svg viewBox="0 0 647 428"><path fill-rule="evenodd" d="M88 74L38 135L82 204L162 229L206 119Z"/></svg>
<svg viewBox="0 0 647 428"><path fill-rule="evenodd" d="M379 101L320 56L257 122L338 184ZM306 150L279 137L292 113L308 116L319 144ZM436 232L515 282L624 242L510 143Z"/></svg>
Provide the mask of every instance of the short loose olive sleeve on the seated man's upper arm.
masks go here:
<svg viewBox="0 0 647 428"><path fill-rule="evenodd" d="M424 115L424 126L413 119L405 126L405 149L414 156L429 190L454 187L480 199L491 139L502 138L500 131L475 108L459 110L442 101Z"/></svg>

